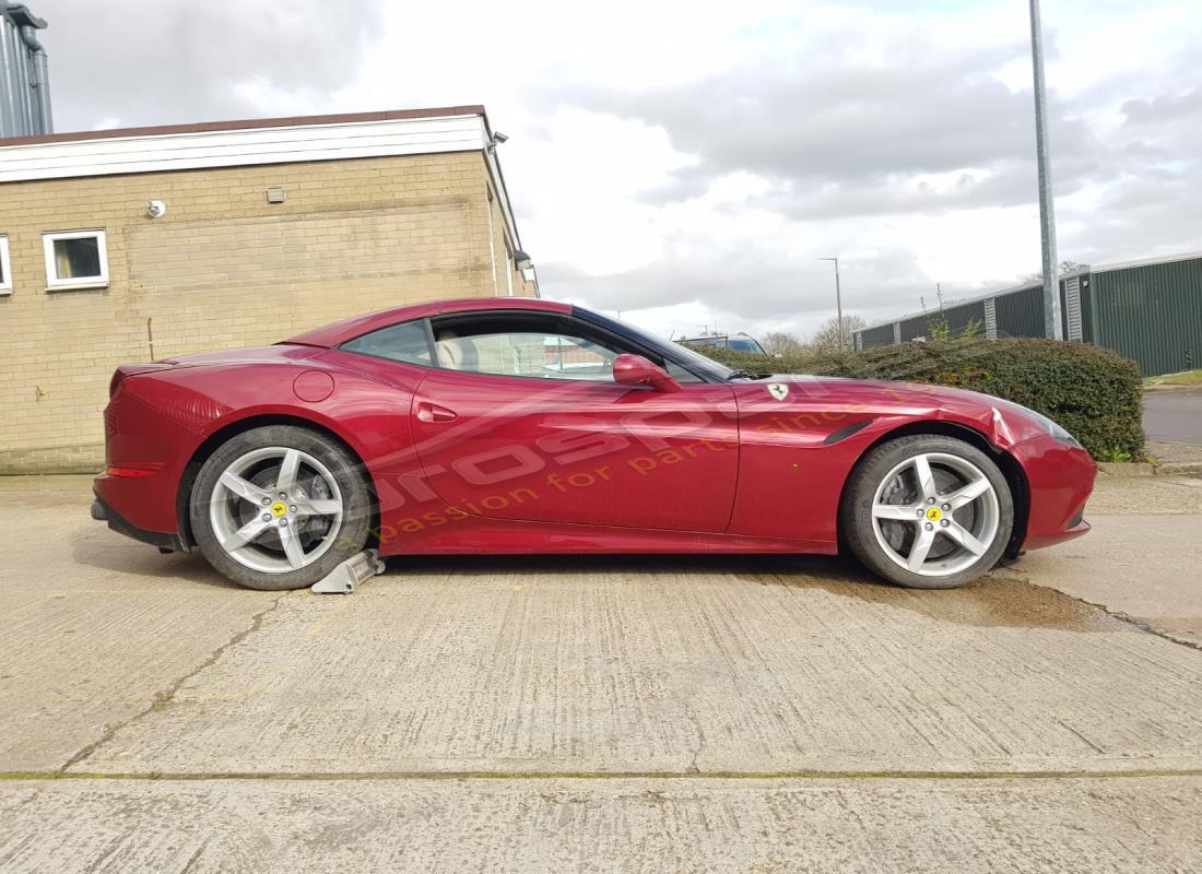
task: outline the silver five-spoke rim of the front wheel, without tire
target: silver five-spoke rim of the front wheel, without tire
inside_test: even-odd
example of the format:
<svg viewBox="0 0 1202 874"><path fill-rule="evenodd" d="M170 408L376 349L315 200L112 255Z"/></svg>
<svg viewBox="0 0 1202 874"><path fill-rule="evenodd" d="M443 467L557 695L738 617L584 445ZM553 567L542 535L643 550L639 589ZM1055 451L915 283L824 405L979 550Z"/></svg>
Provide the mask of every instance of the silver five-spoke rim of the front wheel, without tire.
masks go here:
<svg viewBox="0 0 1202 874"><path fill-rule="evenodd" d="M946 577L976 564L998 536L998 494L980 468L946 452L895 465L873 495L873 534L899 567Z"/></svg>

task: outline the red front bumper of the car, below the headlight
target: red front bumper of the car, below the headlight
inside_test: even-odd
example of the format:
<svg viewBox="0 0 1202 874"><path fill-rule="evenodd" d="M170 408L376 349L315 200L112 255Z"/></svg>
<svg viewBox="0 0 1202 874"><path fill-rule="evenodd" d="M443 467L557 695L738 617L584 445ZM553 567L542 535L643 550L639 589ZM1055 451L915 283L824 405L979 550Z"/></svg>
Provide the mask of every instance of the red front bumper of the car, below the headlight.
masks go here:
<svg viewBox="0 0 1202 874"><path fill-rule="evenodd" d="M1020 551L1042 549L1089 531L1085 501L1094 490L1097 464L1085 450L1039 436L1014 446L1027 471L1030 507Z"/></svg>

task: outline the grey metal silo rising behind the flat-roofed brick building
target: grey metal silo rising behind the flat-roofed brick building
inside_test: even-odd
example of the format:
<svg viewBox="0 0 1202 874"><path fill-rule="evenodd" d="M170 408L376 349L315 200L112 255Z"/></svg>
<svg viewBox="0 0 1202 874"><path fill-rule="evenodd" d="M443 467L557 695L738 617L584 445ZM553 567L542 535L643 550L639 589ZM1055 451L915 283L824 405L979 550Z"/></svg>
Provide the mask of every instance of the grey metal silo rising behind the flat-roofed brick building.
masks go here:
<svg viewBox="0 0 1202 874"><path fill-rule="evenodd" d="M0 0L0 137L52 133L50 81L37 31L46 22Z"/></svg>

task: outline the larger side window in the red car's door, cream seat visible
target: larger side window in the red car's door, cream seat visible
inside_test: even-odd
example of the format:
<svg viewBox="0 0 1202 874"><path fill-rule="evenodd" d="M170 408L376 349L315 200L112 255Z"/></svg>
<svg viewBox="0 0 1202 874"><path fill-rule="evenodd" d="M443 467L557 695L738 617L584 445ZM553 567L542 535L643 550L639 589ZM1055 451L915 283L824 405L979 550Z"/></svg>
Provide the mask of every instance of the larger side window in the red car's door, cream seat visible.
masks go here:
<svg viewBox="0 0 1202 874"><path fill-rule="evenodd" d="M435 332L439 365L448 370L560 380L613 382L619 352L582 337L514 326Z"/></svg>

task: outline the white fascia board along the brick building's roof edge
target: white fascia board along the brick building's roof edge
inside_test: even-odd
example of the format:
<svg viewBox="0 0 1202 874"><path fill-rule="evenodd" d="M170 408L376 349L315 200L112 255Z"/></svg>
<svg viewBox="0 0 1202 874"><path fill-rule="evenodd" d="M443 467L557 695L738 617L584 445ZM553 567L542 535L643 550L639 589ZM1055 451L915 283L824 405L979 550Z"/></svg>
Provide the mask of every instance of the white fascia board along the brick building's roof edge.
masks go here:
<svg viewBox="0 0 1202 874"><path fill-rule="evenodd" d="M480 115L100 137L0 147L0 183L486 151Z"/></svg>

